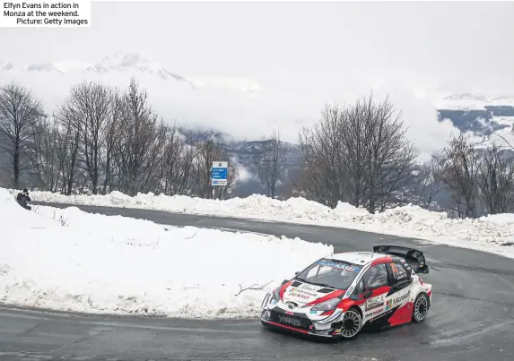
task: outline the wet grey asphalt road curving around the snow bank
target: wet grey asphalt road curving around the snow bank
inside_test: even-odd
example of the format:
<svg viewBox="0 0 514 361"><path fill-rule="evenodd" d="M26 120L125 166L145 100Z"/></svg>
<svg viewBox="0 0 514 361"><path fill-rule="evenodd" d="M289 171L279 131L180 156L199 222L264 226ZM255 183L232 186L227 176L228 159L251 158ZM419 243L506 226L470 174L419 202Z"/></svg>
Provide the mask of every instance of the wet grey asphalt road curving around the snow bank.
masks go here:
<svg viewBox="0 0 514 361"><path fill-rule="evenodd" d="M0 360L514 360L513 260L351 229L162 211L79 208L163 224L299 236L334 245L336 251L370 250L377 244L411 245L423 250L431 267L423 279L434 285L433 307L421 324L362 333L350 341L315 342L263 330L257 319L187 321L58 314L4 306L0 307Z"/></svg>

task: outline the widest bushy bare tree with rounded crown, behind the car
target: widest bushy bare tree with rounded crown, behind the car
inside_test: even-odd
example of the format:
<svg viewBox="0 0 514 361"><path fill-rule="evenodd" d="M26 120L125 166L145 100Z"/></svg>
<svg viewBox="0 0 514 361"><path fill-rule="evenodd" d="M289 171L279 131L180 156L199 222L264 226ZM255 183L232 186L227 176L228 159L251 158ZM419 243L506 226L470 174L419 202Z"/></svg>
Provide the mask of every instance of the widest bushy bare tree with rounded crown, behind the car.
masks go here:
<svg viewBox="0 0 514 361"><path fill-rule="evenodd" d="M353 107L326 107L313 131L300 136L302 173L309 193L331 207L337 202L383 209L413 179L418 152L388 99L372 97Z"/></svg>

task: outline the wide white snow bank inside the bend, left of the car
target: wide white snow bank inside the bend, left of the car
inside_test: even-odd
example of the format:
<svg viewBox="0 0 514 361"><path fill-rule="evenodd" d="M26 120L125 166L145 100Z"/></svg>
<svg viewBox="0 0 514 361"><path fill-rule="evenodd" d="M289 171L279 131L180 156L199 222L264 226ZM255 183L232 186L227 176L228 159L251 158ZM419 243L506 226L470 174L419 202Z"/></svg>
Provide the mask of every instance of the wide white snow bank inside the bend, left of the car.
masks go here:
<svg viewBox="0 0 514 361"><path fill-rule="evenodd" d="M87 313L255 316L267 290L334 251L76 207L26 211L3 189L0 228L0 302Z"/></svg>

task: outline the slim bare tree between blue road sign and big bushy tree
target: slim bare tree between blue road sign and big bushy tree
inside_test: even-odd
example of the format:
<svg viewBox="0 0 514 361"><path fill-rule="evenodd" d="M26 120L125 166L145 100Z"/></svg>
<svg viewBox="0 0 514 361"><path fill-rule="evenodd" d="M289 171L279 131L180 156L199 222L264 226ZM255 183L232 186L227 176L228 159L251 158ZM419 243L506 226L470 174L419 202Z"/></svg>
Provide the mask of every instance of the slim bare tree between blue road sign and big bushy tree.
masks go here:
<svg viewBox="0 0 514 361"><path fill-rule="evenodd" d="M266 195L274 198L284 166L283 144L276 129L269 139L261 142L261 149L254 153L253 160L263 190L266 190Z"/></svg>

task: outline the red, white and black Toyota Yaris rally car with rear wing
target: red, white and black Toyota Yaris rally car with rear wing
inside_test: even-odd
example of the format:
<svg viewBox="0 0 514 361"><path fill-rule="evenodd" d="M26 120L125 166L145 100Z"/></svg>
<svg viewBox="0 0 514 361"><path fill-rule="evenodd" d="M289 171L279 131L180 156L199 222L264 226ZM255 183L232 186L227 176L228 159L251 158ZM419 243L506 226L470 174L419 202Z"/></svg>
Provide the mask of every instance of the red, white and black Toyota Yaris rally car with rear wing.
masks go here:
<svg viewBox="0 0 514 361"><path fill-rule="evenodd" d="M431 284L421 251L376 245L373 252L346 252L319 259L268 293L265 326L326 338L353 339L367 327L423 322Z"/></svg>

